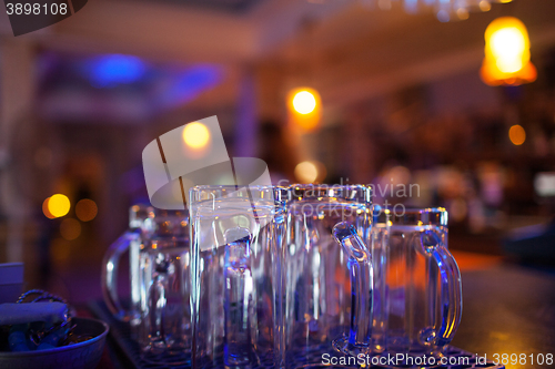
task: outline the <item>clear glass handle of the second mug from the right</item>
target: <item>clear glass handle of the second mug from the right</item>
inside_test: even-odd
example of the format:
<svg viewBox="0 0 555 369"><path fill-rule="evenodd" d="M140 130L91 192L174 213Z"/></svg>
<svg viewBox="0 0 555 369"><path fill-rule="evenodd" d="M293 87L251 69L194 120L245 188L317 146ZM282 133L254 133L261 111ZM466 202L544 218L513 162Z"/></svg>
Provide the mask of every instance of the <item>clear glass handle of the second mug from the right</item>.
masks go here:
<svg viewBox="0 0 555 369"><path fill-rule="evenodd" d="M351 276L351 322L349 337L334 340L333 346L343 353L357 356L371 349L372 306L373 306L373 267L372 256L356 233L356 228L347 222L333 227L333 237L343 247L349 258Z"/></svg>

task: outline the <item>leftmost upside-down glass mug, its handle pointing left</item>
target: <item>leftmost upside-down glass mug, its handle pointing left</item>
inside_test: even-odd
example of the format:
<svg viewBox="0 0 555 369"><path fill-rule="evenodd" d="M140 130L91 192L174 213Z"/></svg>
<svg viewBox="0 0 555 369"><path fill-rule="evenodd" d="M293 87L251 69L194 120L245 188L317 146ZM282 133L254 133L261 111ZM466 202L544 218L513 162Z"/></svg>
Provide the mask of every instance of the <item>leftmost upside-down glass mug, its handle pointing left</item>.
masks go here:
<svg viewBox="0 0 555 369"><path fill-rule="evenodd" d="M117 276L120 258L128 250L131 304L124 308ZM190 347L189 264L188 213L132 206L130 229L104 256L102 291L114 317L131 324L133 336L145 353L171 353Z"/></svg>

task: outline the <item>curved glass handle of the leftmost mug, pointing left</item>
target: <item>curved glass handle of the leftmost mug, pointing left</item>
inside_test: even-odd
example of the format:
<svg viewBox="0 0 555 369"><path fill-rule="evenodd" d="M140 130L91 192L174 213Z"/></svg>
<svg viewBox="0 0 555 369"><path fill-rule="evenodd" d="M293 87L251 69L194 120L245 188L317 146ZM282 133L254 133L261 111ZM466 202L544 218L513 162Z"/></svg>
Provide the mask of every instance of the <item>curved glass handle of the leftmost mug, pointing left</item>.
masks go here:
<svg viewBox="0 0 555 369"><path fill-rule="evenodd" d="M118 269L121 255L124 254L132 242L139 240L139 234L125 232L108 248L102 260L102 296L108 309L115 318L122 321L133 319L133 312L123 308L118 296Z"/></svg>

